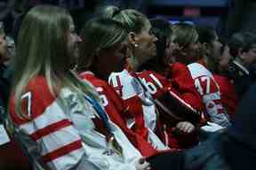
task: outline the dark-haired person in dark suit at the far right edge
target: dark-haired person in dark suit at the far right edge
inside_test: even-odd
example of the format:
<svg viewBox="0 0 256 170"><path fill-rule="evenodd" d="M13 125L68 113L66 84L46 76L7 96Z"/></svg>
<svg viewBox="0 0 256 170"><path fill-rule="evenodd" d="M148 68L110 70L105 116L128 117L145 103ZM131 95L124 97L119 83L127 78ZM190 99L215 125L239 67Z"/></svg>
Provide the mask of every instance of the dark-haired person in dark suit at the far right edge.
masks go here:
<svg viewBox="0 0 256 170"><path fill-rule="evenodd" d="M230 54L233 58L224 70L226 75L234 81L238 99L256 81L256 35L252 33L236 33L228 41Z"/></svg>

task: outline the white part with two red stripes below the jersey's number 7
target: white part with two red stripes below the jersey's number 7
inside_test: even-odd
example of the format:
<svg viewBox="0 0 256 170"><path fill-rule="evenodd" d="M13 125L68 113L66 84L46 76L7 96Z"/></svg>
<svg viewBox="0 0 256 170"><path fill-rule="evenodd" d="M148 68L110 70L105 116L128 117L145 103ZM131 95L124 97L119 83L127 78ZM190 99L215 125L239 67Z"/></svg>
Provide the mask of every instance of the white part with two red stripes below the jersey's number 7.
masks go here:
<svg viewBox="0 0 256 170"><path fill-rule="evenodd" d="M72 169L85 154L78 131L56 101L19 129L35 142L44 164L52 170Z"/></svg>

